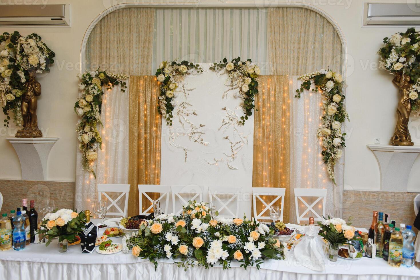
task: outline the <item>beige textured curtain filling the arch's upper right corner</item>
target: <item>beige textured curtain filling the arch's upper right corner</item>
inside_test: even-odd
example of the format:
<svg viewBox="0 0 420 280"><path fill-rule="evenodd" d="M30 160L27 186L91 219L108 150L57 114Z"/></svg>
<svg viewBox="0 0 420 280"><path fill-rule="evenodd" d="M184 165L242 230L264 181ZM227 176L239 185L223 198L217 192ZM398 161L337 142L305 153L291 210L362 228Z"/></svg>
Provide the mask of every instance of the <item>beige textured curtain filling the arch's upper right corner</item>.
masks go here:
<svg viewBox="0 0 420 280"><path fill-rule="evenodd" d="M267 40L271 74L303 75L327 67L342 72L339 34L313 10L269 9Z"/></svg>

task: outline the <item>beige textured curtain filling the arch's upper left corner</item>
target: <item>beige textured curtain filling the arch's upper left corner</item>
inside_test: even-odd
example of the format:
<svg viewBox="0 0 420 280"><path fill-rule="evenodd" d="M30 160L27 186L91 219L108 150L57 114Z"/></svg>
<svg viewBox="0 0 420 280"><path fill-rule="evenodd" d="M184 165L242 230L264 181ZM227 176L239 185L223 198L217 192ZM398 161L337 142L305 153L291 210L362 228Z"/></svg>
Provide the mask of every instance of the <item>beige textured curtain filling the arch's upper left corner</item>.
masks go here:
<svg viewBox="0 0 420 280"><path fill-rule="evenodd" d="M150 75L155 13L154 8L124 8L102 18L87 41L87 67Z"/></svg>

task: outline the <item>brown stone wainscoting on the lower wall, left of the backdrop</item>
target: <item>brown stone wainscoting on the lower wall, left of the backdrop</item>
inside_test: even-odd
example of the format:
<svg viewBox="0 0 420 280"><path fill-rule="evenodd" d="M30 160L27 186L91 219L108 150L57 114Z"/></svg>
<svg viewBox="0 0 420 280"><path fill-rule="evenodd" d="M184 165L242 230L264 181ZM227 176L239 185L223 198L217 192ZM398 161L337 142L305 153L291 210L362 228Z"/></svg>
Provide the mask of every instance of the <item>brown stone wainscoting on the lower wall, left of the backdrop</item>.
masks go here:
<svg viewBox="0 0 420 280"><path fill-rule="evenodd" d="M74 207L74 182L0 180L0 192L3 194L1 213L16 210L22 205L22 198L28 199L28 207L29 201L35 200L35 209L44 197L54 200L56 207Z"/></svg>

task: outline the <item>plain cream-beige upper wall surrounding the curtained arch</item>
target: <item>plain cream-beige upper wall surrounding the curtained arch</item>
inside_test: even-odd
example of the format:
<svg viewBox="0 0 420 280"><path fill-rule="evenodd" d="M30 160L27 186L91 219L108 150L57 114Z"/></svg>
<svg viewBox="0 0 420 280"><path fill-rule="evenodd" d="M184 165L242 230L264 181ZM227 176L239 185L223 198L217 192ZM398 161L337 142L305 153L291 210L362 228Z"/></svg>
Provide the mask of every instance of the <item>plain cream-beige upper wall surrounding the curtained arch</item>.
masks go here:
<svg viewBox="0 0 420 280"><path fill-rule="evenodd" d="M18 1L16 3L22 3L21 0L16 1ZM13 0L8 2L13 2ZM40 0L34 0L34 2L42 3ZM229 1L227 2L229 4ZM257 2L258 0L244 1L244 3ZM279 2L294 3L293 0ZM383 37L397 31L404 31L404 28L363 28L361 0L306 0L303 2L314 3L331 15L346 39L348 60L346 81L349 85L346 90L346 105L351 119L351 122L347 124L346 187L347 189L377 190L380 184L379 169L373 153L366 148L366 144L373 143L375 137L381 138L382 144L388 144L395 125L394 111L397 94L396 88L391 83L391 76L385 71L376 70L378 64L376 52L381 47ZM380 2L406 3L405 0L381 0ZM77 117L73 113L73 106L77 97L76 74L80 70L81 41L87 27L97 15L111 4L123 3L123 1L48 0L46 3L71 3L71 27L3 27L0 28L0 32L17 30L23 35L36 32L56 52L56 63L52 65L51 73L39 78L42 85L42 95L38 103L39 126L47 132L46 136L60 137L50 153L48 179L74 181ZM208 3L220 4L220 1L205 1L205 4ZM240 4L237 5L240 6ZM412 122L410 130L413 140L420 142L419 122ZM12 146L4 139L13 136L16 129L12 125L8 130L0 131L0 150L2 151L0 178L20 179L21 170L18 158ZM419 166L420 160L417 160L414 168L417 169ZM419 190L419 178L413 175L415 175L414 172L410 177L409 188Z"/></svg>

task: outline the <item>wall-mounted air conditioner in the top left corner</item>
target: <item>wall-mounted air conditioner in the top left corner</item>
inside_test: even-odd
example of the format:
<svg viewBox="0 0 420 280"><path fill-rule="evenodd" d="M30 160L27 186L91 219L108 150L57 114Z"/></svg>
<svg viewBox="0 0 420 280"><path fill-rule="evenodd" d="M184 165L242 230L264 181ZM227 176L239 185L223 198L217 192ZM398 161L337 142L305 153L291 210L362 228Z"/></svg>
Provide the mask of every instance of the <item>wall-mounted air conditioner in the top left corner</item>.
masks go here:
<svg viewBox="0 0 420 280"><path fill-rule="evenodd" d="M0 5L0 26L69 26L70 4Z"/></svg>

